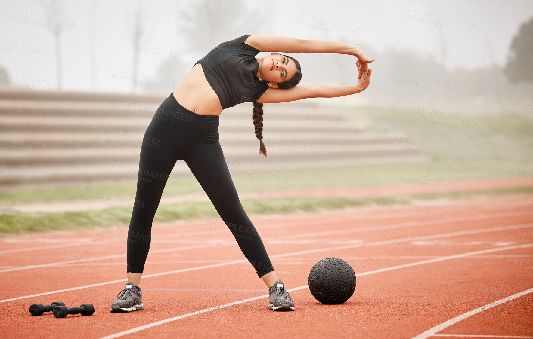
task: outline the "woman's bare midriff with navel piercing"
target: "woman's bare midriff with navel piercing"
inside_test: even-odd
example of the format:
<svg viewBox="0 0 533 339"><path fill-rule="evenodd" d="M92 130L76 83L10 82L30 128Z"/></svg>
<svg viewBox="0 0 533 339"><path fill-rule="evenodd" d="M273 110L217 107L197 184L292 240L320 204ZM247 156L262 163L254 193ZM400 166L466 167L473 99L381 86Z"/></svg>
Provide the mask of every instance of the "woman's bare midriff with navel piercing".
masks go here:
<svg viewBox="0 0 533 339"><path fill-rule="evenodd" d="M201 64L194 65L174 91L174 98L184 108L196 114L220 115L219 96L207 82ZM196 111L195 111L196 109Z"/></svg>

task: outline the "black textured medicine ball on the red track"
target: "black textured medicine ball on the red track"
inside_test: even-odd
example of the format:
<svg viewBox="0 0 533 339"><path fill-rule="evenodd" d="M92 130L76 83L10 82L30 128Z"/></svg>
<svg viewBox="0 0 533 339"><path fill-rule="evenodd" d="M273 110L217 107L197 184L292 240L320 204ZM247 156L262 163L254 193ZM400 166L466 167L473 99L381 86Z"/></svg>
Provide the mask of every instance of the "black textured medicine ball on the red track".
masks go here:
<svg viewBox="0 0 533 339"><path fill-rule="evenodd" d="M342 304L356 290L356 273L338 258L322 259L309 272L309 290L323 304Z"/></svg>

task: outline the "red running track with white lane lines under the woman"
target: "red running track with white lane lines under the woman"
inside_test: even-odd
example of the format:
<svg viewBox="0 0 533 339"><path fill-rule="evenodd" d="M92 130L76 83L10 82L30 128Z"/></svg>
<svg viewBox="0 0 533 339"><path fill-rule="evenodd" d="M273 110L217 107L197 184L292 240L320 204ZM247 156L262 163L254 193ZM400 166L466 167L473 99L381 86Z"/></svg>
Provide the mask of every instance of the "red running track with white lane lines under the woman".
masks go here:
<svg viewBox="0 0 533 339"><path fill-rule="evenodd" d="M266 308L266 288L219 219L154 226L145 309L111 313L125 277L127 229L0 239L0 333L38 338L533 337L532 194L367 206L312 216L251 216L294 312ZM322 305L307 288L318 260L348 261L351 299ZM290 290L289 290L290 291ZM55 319L32 303L92 303Z"/></svg>

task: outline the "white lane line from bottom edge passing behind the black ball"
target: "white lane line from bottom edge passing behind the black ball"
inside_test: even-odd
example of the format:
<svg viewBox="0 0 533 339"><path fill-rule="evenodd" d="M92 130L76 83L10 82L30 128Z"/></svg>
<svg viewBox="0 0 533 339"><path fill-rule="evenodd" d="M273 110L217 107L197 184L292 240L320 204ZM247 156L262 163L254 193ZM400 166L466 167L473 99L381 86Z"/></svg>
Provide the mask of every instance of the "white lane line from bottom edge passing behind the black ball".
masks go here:
<svg viewBox="0 0 533 339"><path fill-rule="evenodd" d="M516 248L519 248L519 247L530 247L530 246L533 246L533 244L516 245L516 246L505 246L505 247L500 247L498 249L467 252L467 253L462 253L462 254L449 255L448 257L445 257L445 258L439 258L438 261L467 257L468 255L472 255L472 254L495 252L495 251L505 251L505 250L510 250L510 249L516 249ZM362 273L359 273L357 275L359 277L360 276L367 276L367 275L381 273L381 272L390 271L390 270L394 270L394 269L401 269L403 267L422 265L422 264L429 263L429 262L433 262L433 261L432 260L425 260L425 261L412 262L412 263L405 264L405 265L398 265L398 266L393 266L393 267L389 267L389 268L385 268L385 269L378 269L378 270L374 270L374 271L362 272ZM290 291L296 291L296 290L303 290L304 288L308 288L308 287L309 287L309 285L303 285L303 286L298 286L296 288L292 288L292 289L290 289L288 291L290 292ZM531 288L531 290L528 290L528 291L533 291L533 288ZM521 292L521 293L523 293L523 292ZM520 294L520 293L518 293L518 294ZM517 294L515 294L515 295L517 295ZM248 301L253 301L253 300L257 300L257 299L262 299L262 298L266 298L266 297L268 297L268 295L260 295L260 296L252 297L252 298L249 298L249 299L239 300L239 301L236 301L236 302L232 302L232 303L228 303L228 304L223 304L223 305L219 305L219 306L203 309L203 310L199 310L199 311L196 311L196 312L187 313L187 314L184 314L184 315L181 315L181 316L177 316L177 317L172 317L172 318L168 318L168 319L165 319L165 320L156 321L155 323L142 325L142 326L139 326L139 327L134 327L134 328L125 330L123 332L119 332L119 333L111 334L111 335L108 335L108 336L105 336L105 337L101 337L100 339L112 339L112 338L121 337L121 336L128 335L128 334L131 334L131 333L139 332L139 331L141 331L143 329L147 329L147 328L158 326L158 325L163 325L163 324L169 323L170 321L179 320L179 319L183 319L183 318L187 318L187 317L192 317L192 316L196 316L196 315L198 315L200 313L214 311L214 310L218 310L218 309L221 309L221 308L224 308L224 307L229 307L229 306L232 306L232 305L236 305L236 304L240 304L240 303L244 303L244 302L248 302ZM424 337L424 338L426 338L426 337ZM418 339L418 337L417 337L417 339Z"/></svg>

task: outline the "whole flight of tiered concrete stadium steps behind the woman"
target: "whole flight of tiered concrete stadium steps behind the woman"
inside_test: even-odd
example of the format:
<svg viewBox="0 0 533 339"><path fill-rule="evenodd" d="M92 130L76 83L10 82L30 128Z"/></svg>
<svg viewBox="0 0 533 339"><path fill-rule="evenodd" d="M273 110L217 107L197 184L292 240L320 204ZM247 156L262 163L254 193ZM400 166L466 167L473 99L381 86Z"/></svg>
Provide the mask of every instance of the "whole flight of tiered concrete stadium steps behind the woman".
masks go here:
<svg viewBox="0 0 533 339"><path fill-rule="evenodd" d="M0 88L0 186L135 182L142 137L169 94ZM376 140L372 121L347 120L338 109L311 99L263 105L265 159L259 154L252 108L242 103L220 115L220 143L234 173L264 177L269 169L428 161L414 145ZM178 161L172 176L192 174Z"/></svg>

